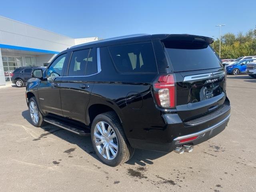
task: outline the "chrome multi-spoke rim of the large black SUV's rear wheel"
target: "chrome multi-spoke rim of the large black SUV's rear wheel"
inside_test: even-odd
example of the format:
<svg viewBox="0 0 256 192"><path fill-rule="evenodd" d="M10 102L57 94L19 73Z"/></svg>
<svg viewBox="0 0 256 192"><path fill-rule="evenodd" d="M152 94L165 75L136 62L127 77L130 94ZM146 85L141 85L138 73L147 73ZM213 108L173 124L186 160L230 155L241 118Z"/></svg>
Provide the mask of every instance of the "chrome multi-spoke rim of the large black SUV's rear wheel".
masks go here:
<svg viewBox="0 0 256 192"><path fill-rule="evenodd" d="M94 128L94 142L98 152L107 160L113 160L118 152L118 142L114 129L100 121Z"/></svg>

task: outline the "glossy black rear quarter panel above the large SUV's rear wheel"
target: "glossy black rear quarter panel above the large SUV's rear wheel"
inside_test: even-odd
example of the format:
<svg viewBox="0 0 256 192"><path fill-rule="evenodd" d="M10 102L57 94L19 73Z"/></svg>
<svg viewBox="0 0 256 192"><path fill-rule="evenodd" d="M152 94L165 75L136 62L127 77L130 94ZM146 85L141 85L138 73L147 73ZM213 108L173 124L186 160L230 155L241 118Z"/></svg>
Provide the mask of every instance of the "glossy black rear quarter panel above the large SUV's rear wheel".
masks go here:
<svg viewBox="0 0 256 192"><path fill-rule="evenodd" d="M100 57L102 71L96 74L88 108L110 106L120 117L127 138L147 138L148 130L163 121L151 92L157 74L118 73L106 47L100 49Z"/></svg>

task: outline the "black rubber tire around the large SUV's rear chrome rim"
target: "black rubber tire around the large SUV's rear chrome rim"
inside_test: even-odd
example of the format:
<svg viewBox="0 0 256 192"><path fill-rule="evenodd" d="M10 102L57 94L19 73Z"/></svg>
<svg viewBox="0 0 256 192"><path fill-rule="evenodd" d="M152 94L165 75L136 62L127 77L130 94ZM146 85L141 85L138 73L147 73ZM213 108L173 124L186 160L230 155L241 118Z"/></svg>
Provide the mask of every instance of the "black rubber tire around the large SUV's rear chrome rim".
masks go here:
<svg viewBox="0 0 256 192"><path fill-rule="evenodd" d="M109 124L112 129L114 130L116 134L116 140L118 143L118 151L116 153L116 156L112 160L108 160L104 158L100 152L98 151L96 144L95 144L95 139L94 139L94 130L96 128L96 124L98 122L106 122L106 124ZM114 112L106 112L103 114L99 114L96 116L92 122L92 128L91 128L91 139L92 139L92 146L100 158L100 160L104 163L107 164L108 166L117 166L119 164L122 164L126 161L128 161L130 158L132 158L134 154L134 148L132 148L124 134L124 130L122 129L120 120L118 116Z"/></svg>

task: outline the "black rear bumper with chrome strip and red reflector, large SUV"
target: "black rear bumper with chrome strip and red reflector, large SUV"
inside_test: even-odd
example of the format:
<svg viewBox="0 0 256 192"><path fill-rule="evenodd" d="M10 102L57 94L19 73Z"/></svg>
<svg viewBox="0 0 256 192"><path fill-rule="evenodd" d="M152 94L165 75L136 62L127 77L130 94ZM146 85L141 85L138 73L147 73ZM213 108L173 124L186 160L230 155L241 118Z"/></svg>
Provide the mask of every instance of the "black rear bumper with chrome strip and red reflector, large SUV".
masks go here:
<svg viewBox="0 0 256 192"><path fill-rule="evenodd" d="M222 115L204 122L195 126L184 126L183 123L168 124L166 131L167 134L172 134L170 136L170 142L152 142L148 140L138 140L138 139L129 139L129 142L132 147L146 149L146 150L155 150L162 152L171 152L177 146L183 144L197 145L206 140L216 136L222 132L228 125L230 118L230 106L229 109L224 112ZM162 138L166 137L166 134L162 133ZM184 139L194 138L193 140L184 141ZM183 141L182 141L183 140ZM182 141L182 142L181 142Z"/></svg>

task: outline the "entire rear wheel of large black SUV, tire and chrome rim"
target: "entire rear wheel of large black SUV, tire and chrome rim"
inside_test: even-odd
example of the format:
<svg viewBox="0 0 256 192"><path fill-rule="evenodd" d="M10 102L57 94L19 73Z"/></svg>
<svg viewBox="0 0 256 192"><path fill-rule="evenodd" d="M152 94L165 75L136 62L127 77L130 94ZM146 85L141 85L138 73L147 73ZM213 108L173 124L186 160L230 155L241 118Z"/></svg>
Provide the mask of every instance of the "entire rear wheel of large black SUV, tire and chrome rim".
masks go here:
<svg viewBox="0 0 256 192"><path fill-rule="evenodd" d="M130 146L114 112L106 112L94 118L91 139L96 154L108 166L122 164L134 154L134 148Z"/></svg>

